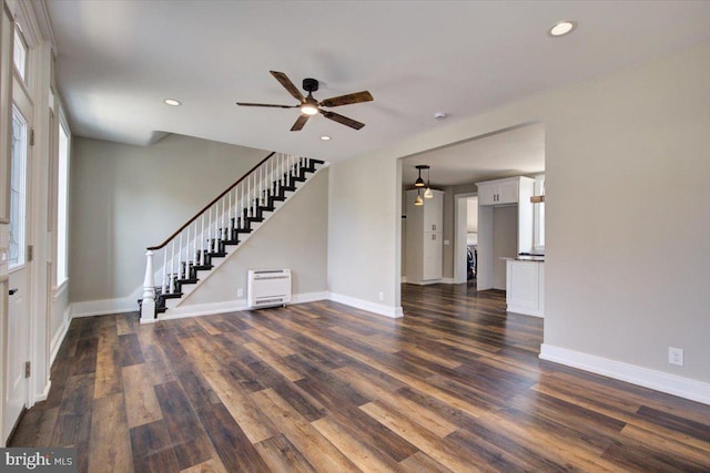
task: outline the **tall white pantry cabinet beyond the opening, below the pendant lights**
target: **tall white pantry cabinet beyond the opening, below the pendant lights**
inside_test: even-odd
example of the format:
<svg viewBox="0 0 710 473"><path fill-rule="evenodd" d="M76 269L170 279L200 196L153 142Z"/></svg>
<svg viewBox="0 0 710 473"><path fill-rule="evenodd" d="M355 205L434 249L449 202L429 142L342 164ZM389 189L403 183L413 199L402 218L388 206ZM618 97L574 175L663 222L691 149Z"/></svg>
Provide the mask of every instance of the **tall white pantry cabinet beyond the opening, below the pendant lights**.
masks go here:
<svg viewBox="0 0 710 473"><path fill-rule="evenodd" d="M424 192L422 191L422 194ZM406 192L405 277L407 282L426 285L442 280L444 261L444 193L432 191L434 197L424 205L414 205L417 191Z"/></svg>

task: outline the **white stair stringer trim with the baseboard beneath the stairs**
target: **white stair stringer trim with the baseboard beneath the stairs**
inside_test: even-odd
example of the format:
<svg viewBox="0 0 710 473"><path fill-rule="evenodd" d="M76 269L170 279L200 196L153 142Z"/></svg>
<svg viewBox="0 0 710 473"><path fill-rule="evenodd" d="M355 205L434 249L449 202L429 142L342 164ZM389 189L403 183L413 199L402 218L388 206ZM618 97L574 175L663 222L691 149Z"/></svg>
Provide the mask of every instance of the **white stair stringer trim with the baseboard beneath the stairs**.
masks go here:
<svg viewBox="0 0 710 473"><path fill-rule="evenodd" d="M199 291L201 290L201 288L205 285L207 285L210 281L210 279L214 278L216 274L221 274L222 273L222 268L224 267L224 265L227 264L227 261L230 261L232 258L234 258L234 255L236 255L237 253L240 253L242 250L242 248L244 248L246 246L246 244L248 241L252 240L252 238L254 237L254 235L256 234L261 234L261 228L264 227L272 217L274 217L276 214L280 213L280 210L282 209L282 207L287 206L288 203L296 197L300 192L305 188L308 184L311 184L321 173L321 171L323 171L324 168L327 167L327 163L326 164L321 164L317 166L317 168L315 169L315 172L313 174L311 174L311 176L305 181L305 182L298 182L296 183L295 187L296 189L291 192L288 194L288 197L286 198L286 200L284 202L277 202L274 205L274 210L271 212L264 212L264 220L261 223L253 223L252 224L252 232L245 235L241 235L240 236L240 243L239 245L227 245L225 253L226 256L224 257L213 257L212 258L212 269L210 270L199 270L197 274L197 279L199 281L196 284L190 284L190 285L184 285L182 288L182 294L183 296L181 298L175 298L175 299L168 299L165 300L165 306L168 308L168 310L164 313L158 313L158 320L166 320L166 319L171 319L171 318L183 318L183 317L192 317L192 316L199 316L199 315L206 315L206 313L215 313L215 312L225 312L225 311L234 311L234 310L243 310L246 308L246 295L243 295L243 299L242 298L236 298L236 294L235 294L235 298L234 300L231 301L216 301L216 302L202 302L202 304L194 304L193 302L193 295L199 294ZM245 289L245 287L244 287ZM236 291L236 289L235 289ZM304 301L310 301L310 300L322 300L322 299L326 299L327 298L327 291L325 290L325 287L323 290L318 290L315 292L311 292L311 294L302 294L302 295L294 295L294 302L304 302Z"/></svg>

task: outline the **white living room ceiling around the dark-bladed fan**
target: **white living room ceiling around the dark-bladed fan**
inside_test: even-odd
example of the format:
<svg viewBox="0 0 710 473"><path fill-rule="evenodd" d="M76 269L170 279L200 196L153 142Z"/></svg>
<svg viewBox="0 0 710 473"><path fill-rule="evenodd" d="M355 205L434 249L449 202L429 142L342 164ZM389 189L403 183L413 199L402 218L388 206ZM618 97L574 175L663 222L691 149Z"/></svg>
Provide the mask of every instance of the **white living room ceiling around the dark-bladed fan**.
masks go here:
<svg viewBox="0 0 710 473"><path fill-rule="evenodd" d="M710 1L45 6L74 134L148 144L179 133L331 162L710 38ZM579 27L549 37L561 19ZM297 86L317 79L320 100L368 90L374 102L334 110L366 126L316 116L290 132L297 110L236 106L294 103L270 70ZM165 97L183 105L166 106ZM447 122L434 121L437 111L449 114ZM333 140L320 141L323 134ZM436 172L443 176L444 166Z"/></svg>

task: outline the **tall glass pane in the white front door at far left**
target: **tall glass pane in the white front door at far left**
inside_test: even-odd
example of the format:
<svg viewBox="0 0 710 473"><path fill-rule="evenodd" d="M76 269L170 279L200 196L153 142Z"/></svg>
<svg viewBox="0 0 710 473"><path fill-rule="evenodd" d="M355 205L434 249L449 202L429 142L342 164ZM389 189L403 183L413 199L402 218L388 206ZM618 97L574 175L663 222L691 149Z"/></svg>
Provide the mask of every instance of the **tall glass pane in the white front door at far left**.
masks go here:
<svg viewBox="0 0 710 473"><path fill-rule="evenodd" d="M10 176L10 258L8 268L24 265L26 184L28 126L20 111L12 106L12 150Z"/></svg>

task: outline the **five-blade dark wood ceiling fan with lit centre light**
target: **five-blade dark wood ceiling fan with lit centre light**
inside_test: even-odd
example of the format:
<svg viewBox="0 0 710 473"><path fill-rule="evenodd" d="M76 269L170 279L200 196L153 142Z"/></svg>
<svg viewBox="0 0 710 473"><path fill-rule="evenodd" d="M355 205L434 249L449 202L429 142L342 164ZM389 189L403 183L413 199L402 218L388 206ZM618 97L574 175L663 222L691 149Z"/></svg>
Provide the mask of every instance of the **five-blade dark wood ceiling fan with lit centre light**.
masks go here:
<svg viewBox="0 0 710 473"><path fill-rule="evenodd" d="M332 99L325 99L318 102L313 97L313 92L318 90L318 81L315 79L304 79L303 80L303 90L308 92L307 96L303 96L303 94L296 89L296 86L291 82L291 79L286 76L283 72L270 71L271 74L276 78L276 80L288 91L294 99L301 102L298 105L270 105L265 103L245 103L245 102L236 102L237 105L242 106L271 106L276 109L301 109L301 115L296 119L296 122L291 127L292 132L298 132L306 124L308 119L315 114L321 114L328 120L333 120L334 122L342 123L345 126L349 126L351 128L359 130L365 126L364 123L357 122L353 119L348 119L347 116L339 115L335 112L331 112L329 110L323 110L322 107L332 107L332 106L341 106L341 105L349 105L353 103L361 102L371 102L373 96L367 91L355 92L347 95L334 96Z"/></svg>

